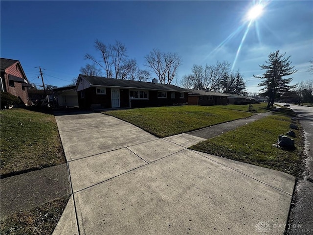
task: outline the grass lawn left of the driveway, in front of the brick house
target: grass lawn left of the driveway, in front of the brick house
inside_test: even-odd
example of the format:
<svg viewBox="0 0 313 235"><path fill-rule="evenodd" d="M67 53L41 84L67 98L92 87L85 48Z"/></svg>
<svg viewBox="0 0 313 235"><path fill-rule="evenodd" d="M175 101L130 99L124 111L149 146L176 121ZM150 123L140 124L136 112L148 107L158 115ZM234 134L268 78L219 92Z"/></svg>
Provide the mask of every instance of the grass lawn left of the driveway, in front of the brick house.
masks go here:
<svg viewBox="0 0 313 235"><path fill-rule="evenodd" d="M1 177L66 163L53 115L1 110L0 124Z"/></svg>

